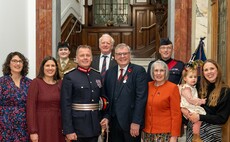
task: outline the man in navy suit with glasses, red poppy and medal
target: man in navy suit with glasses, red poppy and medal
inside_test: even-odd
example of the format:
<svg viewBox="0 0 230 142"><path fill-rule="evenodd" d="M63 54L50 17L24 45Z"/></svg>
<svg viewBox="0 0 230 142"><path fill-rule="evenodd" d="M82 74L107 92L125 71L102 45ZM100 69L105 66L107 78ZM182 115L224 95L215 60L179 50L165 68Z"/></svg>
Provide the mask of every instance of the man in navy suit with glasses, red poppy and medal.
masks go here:
<svg viewBox="0 0 230 142"><path fill-rule="evenodd" d="M130 47L124 43L115 48L118 65L107 70L104 82L109 109L101 125L109 123L110 142L140 142L147 100L146 71L130 63Z"/></svg>

